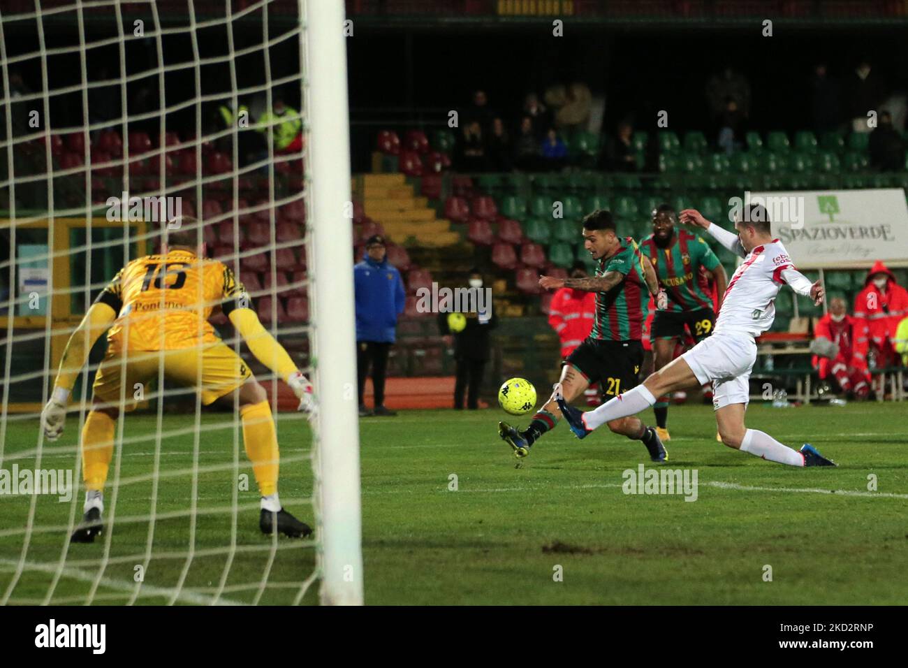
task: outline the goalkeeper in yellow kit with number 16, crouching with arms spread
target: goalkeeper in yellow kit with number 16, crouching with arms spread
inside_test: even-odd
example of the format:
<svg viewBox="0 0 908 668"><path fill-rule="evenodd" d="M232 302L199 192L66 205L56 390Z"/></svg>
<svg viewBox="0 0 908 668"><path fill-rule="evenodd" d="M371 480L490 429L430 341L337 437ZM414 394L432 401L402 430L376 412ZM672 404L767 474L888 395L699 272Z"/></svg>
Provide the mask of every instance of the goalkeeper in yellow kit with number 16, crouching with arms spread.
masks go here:
<svg viewBox="0 0 908 668"><path fill-rule="evenodd" d="M133 260L98 295L66 344L41 423L49 441L63 433L66 404L75 378L94 342L107 331L107 354L94 378L92 409L82 429L84 519L74 543L91 543L103 531L104 483L114 453L114 426L120 411L135 408L135 384L158 377L195 387L202 404L238 400L242 440L262 494L259 526L291 537L311 528L281 508L280 454L271 406L259 384L232 348L214 333L208 317L220 305L252 354L291 386L300 410L314 410L312 386L290 355L250 308L249 296L229 267L203 257L194 221L163 231L160 254ZM200 252L201 251L201 252Z"/></svg>

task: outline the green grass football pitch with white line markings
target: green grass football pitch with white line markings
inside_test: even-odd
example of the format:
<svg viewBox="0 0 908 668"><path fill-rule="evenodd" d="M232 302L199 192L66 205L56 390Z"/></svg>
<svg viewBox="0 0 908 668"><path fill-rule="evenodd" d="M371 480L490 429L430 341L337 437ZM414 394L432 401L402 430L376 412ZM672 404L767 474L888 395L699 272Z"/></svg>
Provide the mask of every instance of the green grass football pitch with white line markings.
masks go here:
<svg viewBox="0 0 908 668"><path fill-rule="evenodd" d="M813 443L841 464L835 469L795 469L735 453L716 443L710 407L673 407L667 467L696 469L693 503L682 495L624 494L623 472L650 464L642 444L607 432L580 442L559 425L518 465L498 440L503 417L498 410L405 411L360 421L367 603L908 601L903 404L750 407L750 426L786 444ZM314 550L310 542L272 543L259 533L254 482L236 493L232 532L237 474L252 477L252 470L231 416L204 414L197 443L192 417L165 415L163 424L174 434L161 446L151 523L155 418L135 415L125 423L109 550L102 540L71 545L64 557L65 528L71 511L81 515L81 491L74 504L0 496L0 597L22 563L9 603L41 603L52 586L51 603L84 603L93 591L94 603L107 604L133 596L157 604L210 603L215 596L294 602L312 573ZM74 467L77 426L71 415L61 440L46 444L44 468ZM37 429L35 420L11 420L0 467L35 467L35 457L23 455L35 448ZM281 414L278 433L287 460L281 499L311 521L308 424ZM868 491L870 474L875 492ZM108 487L108 520L113 494ZM33 530L26 533L33 498ZM136 595L137 565L144 565L144 579ZM316 602L316 586L301 603Z"/></svg>

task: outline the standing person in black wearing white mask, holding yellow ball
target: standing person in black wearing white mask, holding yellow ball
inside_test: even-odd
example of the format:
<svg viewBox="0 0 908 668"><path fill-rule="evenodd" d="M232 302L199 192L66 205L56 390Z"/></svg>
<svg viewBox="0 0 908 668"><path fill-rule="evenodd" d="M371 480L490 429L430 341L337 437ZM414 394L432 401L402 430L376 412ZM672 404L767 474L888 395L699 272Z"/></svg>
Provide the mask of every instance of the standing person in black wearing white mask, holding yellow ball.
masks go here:
<svg viewBox="0 0 908 668"><path fill-rule="evenodd" d="M469 273L469 286L481 290L482 274L478 269ZM457 363L457 380L454 384L454 409L463 410L464 393L467 394L467 408L479 408L479 389L482 386L482 374L489 361L489 332L497 324L491 304L486 312L476 310L463 313L467 326L460 332L451 332L450 313L439 314L439 331L447 344L454 344L454 360ZM453 342L451 339L453 338Z"/></svg>

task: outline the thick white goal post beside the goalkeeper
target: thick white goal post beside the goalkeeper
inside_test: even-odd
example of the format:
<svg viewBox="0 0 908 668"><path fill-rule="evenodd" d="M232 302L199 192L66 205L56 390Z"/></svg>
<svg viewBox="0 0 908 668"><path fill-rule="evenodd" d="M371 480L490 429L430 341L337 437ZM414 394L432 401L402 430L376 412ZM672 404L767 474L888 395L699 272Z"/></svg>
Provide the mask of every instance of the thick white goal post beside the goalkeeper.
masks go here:
<svg viewBox="0 0 908 668"><path fill-rule="evenodd" d="M319 400L316 477L321 518L321 603L362 598L360 434L353 314L350 127L343 0L301 0L306 21L303 99L308 111L312 360Z"/></svg>

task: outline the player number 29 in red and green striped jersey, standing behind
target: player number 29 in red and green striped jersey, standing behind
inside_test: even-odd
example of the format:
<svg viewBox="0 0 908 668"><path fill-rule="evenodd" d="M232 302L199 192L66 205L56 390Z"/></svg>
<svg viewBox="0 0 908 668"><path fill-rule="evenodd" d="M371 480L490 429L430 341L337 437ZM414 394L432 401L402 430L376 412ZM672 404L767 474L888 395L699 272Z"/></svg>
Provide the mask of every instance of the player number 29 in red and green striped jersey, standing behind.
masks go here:
<svg viewBox="0 0 908 668"><path fill-rule="evenodd" d="M653 210L653 234L640 243L640 252L656 267L659 287L668 297L666 308L653 316L649 334L658 371L674 358L676 347L684 338L685 326L696 343L700 343L716 324L713 297L700 280L700 267L716 283L720 300L725 294L727 277L719 258L703 239L687 230L676 230L675 210L668 204L660 204ZM657 397L653 411L659 438L668 441L671 438L667 426L668 397Z"/></svg>

